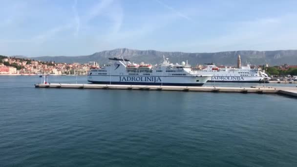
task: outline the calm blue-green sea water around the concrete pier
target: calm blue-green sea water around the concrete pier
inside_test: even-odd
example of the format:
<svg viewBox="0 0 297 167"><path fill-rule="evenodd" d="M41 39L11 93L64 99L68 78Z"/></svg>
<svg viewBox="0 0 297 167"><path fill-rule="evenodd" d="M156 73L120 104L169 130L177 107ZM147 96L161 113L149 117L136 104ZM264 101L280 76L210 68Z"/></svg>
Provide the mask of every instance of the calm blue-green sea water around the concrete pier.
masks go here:
<svg viewBox="0 0 297 167"><path fill-rule="evenodd" d="M297 167L297 99L40 81L0 76L0 167Z"/></svg>

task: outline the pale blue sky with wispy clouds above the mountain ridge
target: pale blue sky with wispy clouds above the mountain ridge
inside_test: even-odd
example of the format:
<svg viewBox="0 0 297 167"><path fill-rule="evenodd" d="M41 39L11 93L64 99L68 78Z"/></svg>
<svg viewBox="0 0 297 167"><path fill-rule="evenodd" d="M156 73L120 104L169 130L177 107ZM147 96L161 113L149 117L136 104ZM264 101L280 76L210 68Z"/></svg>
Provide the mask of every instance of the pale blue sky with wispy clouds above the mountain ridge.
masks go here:
<svg viewBox="0 0 297 167"><path fill-rule="evenodd" d="M297 49L297 0L0 0L0 55Z"/></svg>

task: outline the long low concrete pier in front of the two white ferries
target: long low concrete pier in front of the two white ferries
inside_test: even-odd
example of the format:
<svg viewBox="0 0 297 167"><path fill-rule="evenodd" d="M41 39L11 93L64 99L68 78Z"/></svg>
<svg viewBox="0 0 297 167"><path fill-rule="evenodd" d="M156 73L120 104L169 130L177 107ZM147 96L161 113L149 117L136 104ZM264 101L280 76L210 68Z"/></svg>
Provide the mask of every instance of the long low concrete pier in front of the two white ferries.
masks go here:
<svg viewBox="0 0 297 167"><path fill-rule="evenodd" d="M77 89L126 89L126 90L167 90L196 92L230 93L271 93L297 97L297 87L214 87L214 86L151 86L151 85L116 85L116 84L35 84L36 88L77 88Z"/></svg>

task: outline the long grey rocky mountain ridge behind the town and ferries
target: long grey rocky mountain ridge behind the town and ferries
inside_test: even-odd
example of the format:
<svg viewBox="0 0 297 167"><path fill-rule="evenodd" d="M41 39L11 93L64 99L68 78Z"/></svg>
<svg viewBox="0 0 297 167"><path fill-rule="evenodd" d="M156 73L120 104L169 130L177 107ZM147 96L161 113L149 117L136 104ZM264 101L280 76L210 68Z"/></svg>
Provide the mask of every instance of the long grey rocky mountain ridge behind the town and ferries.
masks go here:
<svg viewBox="0 0 297 167"><path fill-rule="evenodd" d="M276 51L227 51L215 53L184 53L184 52L162 52L156 50L134 50L127 48L119 48L114 50L106 50L96 52L88 56L44 56L34 57L32 59L40 61L55 61L56 63L87 63L91 61L100 64L108 63L108 58L124 57L130 59L131 62L140 63L161 63L163 55L169 58L170 62L178 63L188 60L191 65L197 63L215 63L217 65L235 65L237 56L240 54L242 62L245 64L261 65L268 63L269 65L280 65L283 63L297 64L297 50L276 50Z"/></svg>

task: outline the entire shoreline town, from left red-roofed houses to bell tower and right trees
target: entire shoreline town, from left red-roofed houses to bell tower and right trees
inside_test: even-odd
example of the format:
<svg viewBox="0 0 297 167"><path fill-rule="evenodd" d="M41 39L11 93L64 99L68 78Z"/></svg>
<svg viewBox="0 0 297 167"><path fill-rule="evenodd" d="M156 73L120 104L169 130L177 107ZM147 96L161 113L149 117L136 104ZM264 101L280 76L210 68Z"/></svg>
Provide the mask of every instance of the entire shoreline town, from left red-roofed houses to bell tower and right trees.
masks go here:
<svg viewBox="0 0 297 167"><path fill-rule="evenodd" d="M240 66L240 56L237 68ZM0 75L87 75L90 69L99 68L97 62L88 63L56 63L53 61L42 62L34 59L23 59L0 55ZM202 70L206 66L197 64L193 69ZM225 66L218 66L219 69ZM236 67L231 67L236 68ZM266 71L272 78L285 78L297 76L297 65L282 64L278 66L257 65L251 66Z"/></svg>

